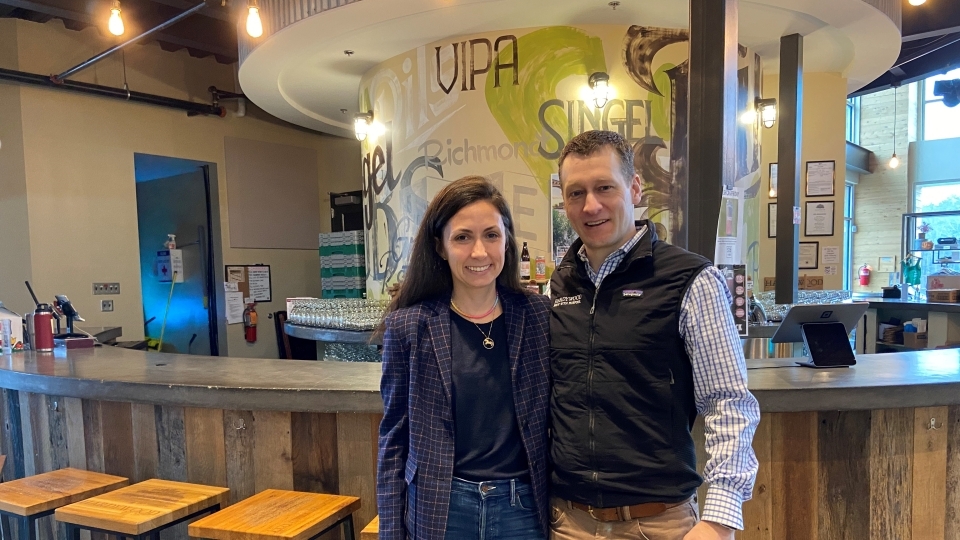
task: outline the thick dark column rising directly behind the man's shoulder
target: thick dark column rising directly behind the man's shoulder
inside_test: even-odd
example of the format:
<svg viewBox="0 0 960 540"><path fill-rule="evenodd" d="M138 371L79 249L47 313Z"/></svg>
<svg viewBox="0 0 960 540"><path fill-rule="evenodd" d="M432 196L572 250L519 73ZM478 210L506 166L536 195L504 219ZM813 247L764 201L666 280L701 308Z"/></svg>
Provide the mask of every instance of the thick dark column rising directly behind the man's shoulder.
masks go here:
<svg viewBox="0 0 960 540"><path fill-rule="evenodd" d="M723 186L736 181L737 0L690 0L687 249L713 260Z"/></svg>

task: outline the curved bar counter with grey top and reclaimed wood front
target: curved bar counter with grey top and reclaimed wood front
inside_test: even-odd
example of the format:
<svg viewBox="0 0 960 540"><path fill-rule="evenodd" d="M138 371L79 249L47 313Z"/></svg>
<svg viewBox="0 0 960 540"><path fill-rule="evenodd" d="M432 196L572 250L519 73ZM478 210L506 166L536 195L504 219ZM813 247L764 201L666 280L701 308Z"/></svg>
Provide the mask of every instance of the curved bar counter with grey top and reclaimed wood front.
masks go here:
<svg viewBox="0 0 960 540"><path fill-rule="evenodd" d="M960 350L857 361L748 360L761 465L739 538L960 537ZM223 485L233 502L267 488L342 493L361 497L362 528L376 515L379 380L376 363L112 347L0 356L4 478L72 466ZM703 463L699 422L694 436Z"/></svg>

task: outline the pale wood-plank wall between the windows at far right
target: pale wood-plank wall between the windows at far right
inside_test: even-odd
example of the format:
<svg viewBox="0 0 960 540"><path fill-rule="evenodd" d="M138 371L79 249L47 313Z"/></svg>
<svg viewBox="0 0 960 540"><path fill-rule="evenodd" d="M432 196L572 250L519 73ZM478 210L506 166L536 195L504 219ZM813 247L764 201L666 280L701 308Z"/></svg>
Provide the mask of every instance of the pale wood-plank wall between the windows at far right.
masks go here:
<svg viewBox="0 0 960 540"><path fill-rule="evenodd" d="M874 152L876 171L860 175L856 188L854 222L857 232L853 235L853 266L858 269L866 264L874 272L869 286L862 287L859 281L854 281L854 292L879 291L880 287L887 286L889 274L876 271L879 258L895 256L898 262L900 260L902 215L909 211L907 171L910 156L907 147L913 109L910 90L901 88L896 94L896 121L893 90L860 98L860 145ZM894 128L897 130L896 152L900 166L891 169Z"/></svg>

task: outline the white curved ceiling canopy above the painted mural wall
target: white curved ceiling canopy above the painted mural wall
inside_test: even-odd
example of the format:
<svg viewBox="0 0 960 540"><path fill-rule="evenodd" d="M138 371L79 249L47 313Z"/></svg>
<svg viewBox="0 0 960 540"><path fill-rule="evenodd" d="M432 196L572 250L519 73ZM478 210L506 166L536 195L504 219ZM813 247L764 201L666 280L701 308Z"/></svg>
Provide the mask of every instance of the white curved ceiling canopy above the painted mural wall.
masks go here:
<svg viewBox="0 0 960 540"><path fill-rule="evenodd" d="M804 36L804 70L834 72L854 91L886 71L900 31L873 0L739 3L739 42L765 73L779 67L780 37ZM267 112L317 131L353 136L361 77L398 54L449 37L557 25L642 24L686 28L686 0L362 0L294 22L250 51L244 93ZM351 51L346 54L345 51ZM342 111L346 112L342 112Z"/></svg>

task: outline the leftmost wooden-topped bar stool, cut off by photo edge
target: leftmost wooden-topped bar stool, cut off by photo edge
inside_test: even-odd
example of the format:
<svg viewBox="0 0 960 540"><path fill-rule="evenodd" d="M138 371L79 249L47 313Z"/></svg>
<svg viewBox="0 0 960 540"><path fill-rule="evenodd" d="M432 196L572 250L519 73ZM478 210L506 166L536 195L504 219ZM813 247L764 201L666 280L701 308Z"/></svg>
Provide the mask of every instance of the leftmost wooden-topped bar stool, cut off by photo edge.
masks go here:
<svg viewBox="0 0 960 540"><path fill-rule="evenodd" d="M60 469L0 484L0 527L11 540L10 518L17 520L23 540L37 538L37 520L57 508L129 484L120 476L79 469Z"/></svg>

